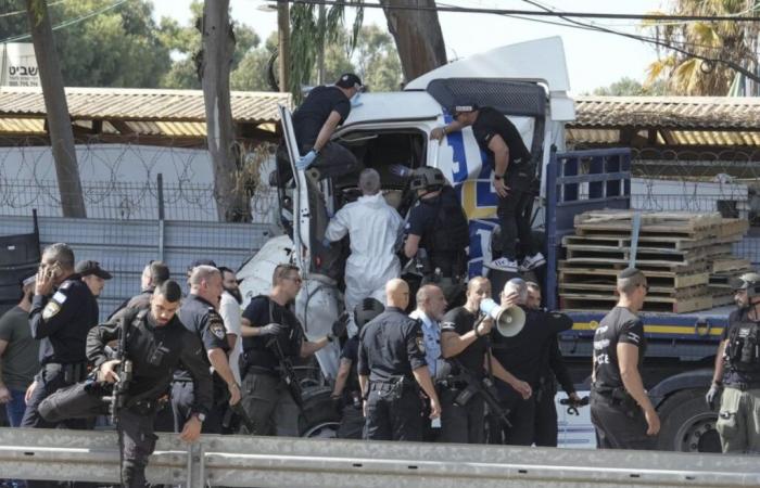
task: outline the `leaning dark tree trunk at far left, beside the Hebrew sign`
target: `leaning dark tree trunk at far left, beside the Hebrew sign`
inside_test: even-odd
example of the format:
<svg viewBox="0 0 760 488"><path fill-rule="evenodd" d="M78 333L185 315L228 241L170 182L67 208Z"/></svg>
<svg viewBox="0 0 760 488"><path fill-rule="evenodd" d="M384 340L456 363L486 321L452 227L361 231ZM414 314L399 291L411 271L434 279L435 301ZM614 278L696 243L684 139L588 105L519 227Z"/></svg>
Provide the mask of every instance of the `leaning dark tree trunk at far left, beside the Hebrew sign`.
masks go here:
<svg viewBox="0 0 760 488"><path fill-rule="evenodd" d="M87 209L81 194L79 166L76 162L74 131L68 116L68 104L55 50L55 38L48 16L48 5L45 0L26 0L26 11L39 67L39 79L42 84L45 110L48 114L48 133L55 162L61 210L64 217L86 218Z"/></svg>

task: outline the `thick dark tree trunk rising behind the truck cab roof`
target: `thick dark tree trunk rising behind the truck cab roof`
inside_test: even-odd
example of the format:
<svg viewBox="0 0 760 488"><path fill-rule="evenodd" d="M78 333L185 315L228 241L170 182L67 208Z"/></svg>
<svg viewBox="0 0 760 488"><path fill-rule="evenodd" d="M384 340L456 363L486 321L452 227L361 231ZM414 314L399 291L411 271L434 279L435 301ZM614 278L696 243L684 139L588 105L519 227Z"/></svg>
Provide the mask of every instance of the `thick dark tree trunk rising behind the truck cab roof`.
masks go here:
<svg viewBox="0 0 760 488"><path fill-rule="evenodd" d="M446 44L435 10L395 10L392 7L435 8L435 0L380 0L408 82L446 64Z"/></svg>

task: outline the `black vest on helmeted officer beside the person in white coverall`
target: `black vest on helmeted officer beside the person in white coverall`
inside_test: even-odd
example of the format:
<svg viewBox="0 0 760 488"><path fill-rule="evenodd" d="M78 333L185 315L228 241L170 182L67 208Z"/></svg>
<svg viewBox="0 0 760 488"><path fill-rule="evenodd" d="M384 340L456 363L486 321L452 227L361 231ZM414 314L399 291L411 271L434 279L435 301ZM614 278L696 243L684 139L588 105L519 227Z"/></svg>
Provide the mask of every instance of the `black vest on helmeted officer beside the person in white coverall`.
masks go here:
<svg viewBox="0 0 760 488"><path fill-rule="evenodd" d="M470 223L452 187L443 187L436 202L421 202L436 207L435 222L425 239L423 247L429 253L464 252L470 245Z"/></svg>

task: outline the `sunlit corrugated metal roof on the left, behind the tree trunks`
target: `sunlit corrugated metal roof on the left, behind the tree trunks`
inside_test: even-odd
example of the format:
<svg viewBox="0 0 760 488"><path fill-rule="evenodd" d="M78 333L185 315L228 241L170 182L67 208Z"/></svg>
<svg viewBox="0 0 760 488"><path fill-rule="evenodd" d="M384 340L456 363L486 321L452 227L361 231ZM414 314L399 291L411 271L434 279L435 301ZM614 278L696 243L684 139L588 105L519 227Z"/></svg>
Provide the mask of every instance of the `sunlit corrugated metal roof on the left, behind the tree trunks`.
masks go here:
<svg viewBox="0 0 760 488"><path fill-rule="evenodd" d="M205 121L201 90L66 88L66 101L74 119ZM291 97L288 93L233 91L231 103L236 123L276 123L279 120L277 105L291 106ZM0 88L0 117L45 117L45 114L40 88ZM194 128L191 131L194 132Z"/></svg>

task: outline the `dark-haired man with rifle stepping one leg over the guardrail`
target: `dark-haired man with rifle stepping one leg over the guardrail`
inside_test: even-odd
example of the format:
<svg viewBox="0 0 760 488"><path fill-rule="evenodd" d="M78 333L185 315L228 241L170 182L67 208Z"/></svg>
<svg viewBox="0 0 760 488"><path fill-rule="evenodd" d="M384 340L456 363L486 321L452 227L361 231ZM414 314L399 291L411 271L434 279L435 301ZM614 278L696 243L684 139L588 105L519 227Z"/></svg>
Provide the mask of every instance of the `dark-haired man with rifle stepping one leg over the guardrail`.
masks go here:
<svg viewBox="0 0 760 488"><path fill-rule="evenodd" d="M181 293L176 282L166 281L156 286L149 309L125 309L117 318L90 330L87 357L98 372L97 377L59 390L40 404L40 411L51 421L66 416L88 418L100 412L104 404L101 397L111 389L106 384L125 380L124 376L119 378L119 360L110 359L106 354L106 345L121 337L119 319L123 318L127 329L125 356L132 371L123 408L116 412L125 487L147 486L145 466L157 439L153 427L159 398L168 389L172 373L180 363L190 374L195 394L191 413L179 435L182 440L198 439L212 407L212 378L205 351L198 337L187 331L175 314Z"/></svg>

